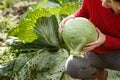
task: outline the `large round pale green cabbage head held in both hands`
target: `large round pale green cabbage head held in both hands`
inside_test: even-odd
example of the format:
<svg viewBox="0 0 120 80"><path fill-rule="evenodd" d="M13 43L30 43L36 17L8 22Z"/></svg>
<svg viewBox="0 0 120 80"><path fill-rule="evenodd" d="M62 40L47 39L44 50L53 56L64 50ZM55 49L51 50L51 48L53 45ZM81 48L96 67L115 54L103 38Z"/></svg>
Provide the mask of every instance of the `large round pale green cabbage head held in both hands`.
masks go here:
<svg viewBox="0 0 120 80"><path fill-rule="evenodd" d="M86 43L95 41L98 33L95 26L86 18L77 17L66 21L62 37L74 56L80 56Z"/></svg>

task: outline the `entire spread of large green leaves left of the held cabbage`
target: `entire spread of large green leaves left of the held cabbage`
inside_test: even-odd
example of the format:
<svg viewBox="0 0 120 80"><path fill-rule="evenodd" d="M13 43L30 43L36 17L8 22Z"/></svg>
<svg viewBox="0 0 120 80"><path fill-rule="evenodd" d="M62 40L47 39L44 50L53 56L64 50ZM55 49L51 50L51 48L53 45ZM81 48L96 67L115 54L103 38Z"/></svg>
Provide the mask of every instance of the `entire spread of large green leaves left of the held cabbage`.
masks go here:
<svg viewBox="0 0 120 80"><path fill-rule="evenodd" d="M42 0L30 6L8 33L6 42L16 58L0 65L0 80L61 80L69 50L59 37L58 24L78 5Z"/></svg>

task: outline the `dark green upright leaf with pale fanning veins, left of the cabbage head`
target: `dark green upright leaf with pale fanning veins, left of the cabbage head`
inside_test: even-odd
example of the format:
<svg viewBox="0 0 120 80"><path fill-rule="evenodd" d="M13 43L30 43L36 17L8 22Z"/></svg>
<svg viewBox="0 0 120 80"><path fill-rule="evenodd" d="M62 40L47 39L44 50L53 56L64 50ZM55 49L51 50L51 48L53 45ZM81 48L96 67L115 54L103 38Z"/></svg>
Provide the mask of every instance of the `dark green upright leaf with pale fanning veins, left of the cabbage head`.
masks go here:
<svg viewBox="0 0 120 80"><path fill-rule="evenodd" d="M35 27L35 32L41 38L42 43L59 47L58 24L55 16L39 18Z"/></svg>

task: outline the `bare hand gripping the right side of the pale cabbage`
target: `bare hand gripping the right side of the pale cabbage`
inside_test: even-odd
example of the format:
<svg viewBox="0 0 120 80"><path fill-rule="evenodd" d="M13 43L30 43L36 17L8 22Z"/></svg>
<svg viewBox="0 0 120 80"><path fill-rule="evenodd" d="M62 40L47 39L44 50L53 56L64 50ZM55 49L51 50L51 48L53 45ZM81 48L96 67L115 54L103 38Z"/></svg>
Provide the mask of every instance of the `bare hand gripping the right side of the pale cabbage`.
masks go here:
<svg viewBox="0 0 120 80"><path fill-rule="evenodd" d="M96 30L98 32L98 39L94 42L86 44L83 48L84 51L91 51L105 42L105 35L98 28L96 28Z"/></svg>

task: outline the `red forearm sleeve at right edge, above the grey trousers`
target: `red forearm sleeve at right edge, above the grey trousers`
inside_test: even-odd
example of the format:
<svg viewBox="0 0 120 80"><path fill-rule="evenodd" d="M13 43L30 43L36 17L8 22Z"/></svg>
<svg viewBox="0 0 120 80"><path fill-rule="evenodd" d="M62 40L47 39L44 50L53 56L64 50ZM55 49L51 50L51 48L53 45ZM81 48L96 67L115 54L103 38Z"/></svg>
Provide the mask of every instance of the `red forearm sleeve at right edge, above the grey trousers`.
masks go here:
<svg viewBox="0 0 120 80"><path fill-rule="evenodd" d="M106 35L105 43L92 51L97 54L107 54L113 51L120 51L120 38Z"/></svg>

